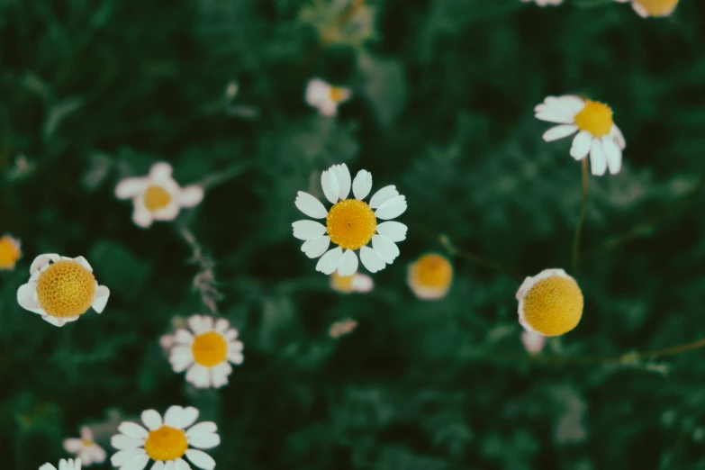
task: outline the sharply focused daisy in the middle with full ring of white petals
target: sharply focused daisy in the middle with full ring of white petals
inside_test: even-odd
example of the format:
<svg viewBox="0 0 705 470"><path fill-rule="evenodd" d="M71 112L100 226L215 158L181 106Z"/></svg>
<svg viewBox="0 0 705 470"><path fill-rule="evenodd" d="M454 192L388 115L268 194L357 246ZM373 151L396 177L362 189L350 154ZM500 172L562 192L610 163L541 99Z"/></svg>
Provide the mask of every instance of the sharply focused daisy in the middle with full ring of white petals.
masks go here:
<svg viewBox="0 0 705 470"><path fill-rule="evenodd" d="M385 186L372 196L369 204L363 199L372 188L372 175L360 170L355 181L345 164L333 165L321 175L323 194L333 204L327 211L321 201L311 194L299 191L296 207L313 219L325 219L326 225L317 221L295 221L294 237L304 240L301 250L309 258L319 258L316 270L330 275L352 276L357 272L357 254L360 250L362 264L371 273L391 265L399 256L396 243L406 239L406 225L389 221L406 211L406 197L393 185ZM352 187L355 199L348 199ZM383 223L377 224L377 219ZM372 241L372 248L367 244ZM330 243L338 245L330 249ZM345 250L345 251L343 251ZM325 253L325 254L324 254ZM322 255L322 256L321 256Z"/></svg>

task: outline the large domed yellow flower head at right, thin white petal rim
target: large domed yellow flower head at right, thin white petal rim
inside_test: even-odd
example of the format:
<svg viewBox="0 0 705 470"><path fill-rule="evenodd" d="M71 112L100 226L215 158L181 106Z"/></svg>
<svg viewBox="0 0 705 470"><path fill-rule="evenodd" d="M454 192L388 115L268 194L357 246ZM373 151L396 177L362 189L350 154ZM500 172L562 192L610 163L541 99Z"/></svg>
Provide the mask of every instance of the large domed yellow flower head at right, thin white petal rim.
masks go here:
<svg viewBox="0 0 705 470"><path fill-rule="evenodd" d="M563 269L545 269L524 279L517 300L521 326L544 336L573 330L583 316L583 293Z"/></svg>

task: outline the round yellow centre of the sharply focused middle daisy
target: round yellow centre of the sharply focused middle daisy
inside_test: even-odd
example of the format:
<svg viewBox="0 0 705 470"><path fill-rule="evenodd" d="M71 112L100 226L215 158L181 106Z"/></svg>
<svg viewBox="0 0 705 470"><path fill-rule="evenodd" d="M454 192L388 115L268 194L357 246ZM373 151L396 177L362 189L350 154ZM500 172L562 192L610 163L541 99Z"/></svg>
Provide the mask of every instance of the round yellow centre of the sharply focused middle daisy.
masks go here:
<svg viewBox="0 0 705 470"><path fill-rule="evenodd" d="M330 208L326 225L333 243L343 249L358 249L372 240L377 218L367 203L346 199Z"/></svg>

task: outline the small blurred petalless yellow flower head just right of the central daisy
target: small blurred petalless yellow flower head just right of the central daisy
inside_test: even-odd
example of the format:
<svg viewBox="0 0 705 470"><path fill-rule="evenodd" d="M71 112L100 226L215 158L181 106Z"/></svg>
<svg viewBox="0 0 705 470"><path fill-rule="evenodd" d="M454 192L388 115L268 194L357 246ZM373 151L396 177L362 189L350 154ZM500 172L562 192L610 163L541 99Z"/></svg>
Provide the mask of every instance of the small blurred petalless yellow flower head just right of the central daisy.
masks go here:
<svg viewBox="0 0 705 470"><path fill-rule="evenodd" d="M445 257L434 253L423 255L409 265L406 282L420 299L441 299L453 282L453 267Z"/></svg>

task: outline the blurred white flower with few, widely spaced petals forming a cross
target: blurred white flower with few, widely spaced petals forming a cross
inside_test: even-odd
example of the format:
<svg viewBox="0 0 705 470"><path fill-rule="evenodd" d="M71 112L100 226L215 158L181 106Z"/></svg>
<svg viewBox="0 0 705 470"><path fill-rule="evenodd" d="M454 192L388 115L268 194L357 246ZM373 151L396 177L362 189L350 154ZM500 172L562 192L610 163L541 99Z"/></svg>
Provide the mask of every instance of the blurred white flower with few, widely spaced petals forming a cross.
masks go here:
<svg viewBox="0 0 705 470"><path fill-rule="evenodd" d="M152 221L173 221L182 207L194 207L203 201L203 187L180 187L171 177L172 167L160 162L152 165L148 176L125 178L115 187L118 199L134 203L132 221L148 228Z"/></svg>

